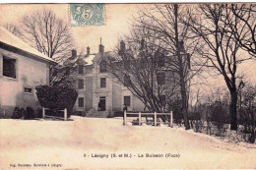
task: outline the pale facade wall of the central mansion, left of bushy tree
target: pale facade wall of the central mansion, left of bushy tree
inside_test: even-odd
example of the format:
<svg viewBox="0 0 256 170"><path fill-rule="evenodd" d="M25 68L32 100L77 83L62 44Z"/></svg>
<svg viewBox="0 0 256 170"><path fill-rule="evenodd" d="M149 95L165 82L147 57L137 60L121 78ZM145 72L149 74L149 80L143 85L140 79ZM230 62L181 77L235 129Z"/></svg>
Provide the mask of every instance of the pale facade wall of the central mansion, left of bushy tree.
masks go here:
<svg viewBox="0 0 256 170"><path fill-rule="evenodd" d="M103 55L97 53L93 60L93 65L85 66L84 75L78 76L78 79L84 79L84 89L78 89L79 97L84 97L84 108L79 107L78 99L75 105L76 111L88 112L90 116L106 116L115 111L121 111L124 103L124 96L131 97L131 106L128 111L142 111L144 104L123 85L109 76L107 72L100 73L99 64ZM106 79L106 87L100 87L100 79ZM98 102L100 97L105 97L106 111L98 111ZM79 98L78 97L78 98Z"/></svg>

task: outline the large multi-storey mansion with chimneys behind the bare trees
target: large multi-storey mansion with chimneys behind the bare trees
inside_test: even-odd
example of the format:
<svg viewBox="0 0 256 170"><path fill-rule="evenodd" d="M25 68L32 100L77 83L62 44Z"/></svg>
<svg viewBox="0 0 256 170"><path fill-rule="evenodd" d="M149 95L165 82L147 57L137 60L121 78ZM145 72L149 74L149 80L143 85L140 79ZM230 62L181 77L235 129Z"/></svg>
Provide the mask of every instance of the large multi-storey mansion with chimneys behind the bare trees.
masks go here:
<svg viewBox="0 0 256 170"><path fill-rule="evenodd" d="M125 48L124 41L120 42L120 51L117 55L121 56L126 52L129 54L130 49ZM90 53L90 47L87 48L86 55L77 55L75 50L72 51L72 61L76 63L75 86L78 90L78 99L74 106L75 111L87 113L87 116L106 117L116 111L121 111L123 104L128 111L147 111L145 104L136 97L124 84L130 81L127 75L120 76L123 84L113 78L107 70L107 61L114 61L115 64L122 62L114 59L115 52L105 52L104 46L98 45L96 54ZM173 59L176 57L168 56L165 51L156 52L158 72L154 73L155 96L160 100L160 110L167 111L170 109L169 103L173 97L179 95L178 75L173 72ZM109 58L110 57L110 58ZM111 58L113 57L113 58ZM134 63L145 63L145 56L138 53L137 58L133 58ZM131 62L132 60L129 59ZM124 67L129 67L127 62ZM120 65L121 69L123 66ZM142 65L143 66L143 65ZM127 80L127 81L125 81ZM129 83L128 83L129 84Z"/></svg>

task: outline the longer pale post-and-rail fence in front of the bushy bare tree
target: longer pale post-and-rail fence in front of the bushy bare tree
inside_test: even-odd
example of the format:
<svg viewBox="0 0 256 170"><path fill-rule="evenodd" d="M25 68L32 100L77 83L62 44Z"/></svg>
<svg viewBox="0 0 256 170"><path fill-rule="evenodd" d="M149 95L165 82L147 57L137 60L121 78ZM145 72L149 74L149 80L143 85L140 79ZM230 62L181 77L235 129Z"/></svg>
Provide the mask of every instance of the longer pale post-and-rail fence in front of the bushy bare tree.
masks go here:
<svg viewBox="0 0 256 170"><path fill-rule="evenodd" d="M154 125L157 126L157 116L161 115L161 116L169 116L169 122L168 122L168 126L172 128L173 126L173 115L172 115L172 111L170 113L127 113L126 111L124 111L124 119L123 119L123 125L125 126L127 123L127 115L138 115L139 118L139 125L141 125L142 123L142 115L146 115L146 116L152 116L154 115Z"/></svg>

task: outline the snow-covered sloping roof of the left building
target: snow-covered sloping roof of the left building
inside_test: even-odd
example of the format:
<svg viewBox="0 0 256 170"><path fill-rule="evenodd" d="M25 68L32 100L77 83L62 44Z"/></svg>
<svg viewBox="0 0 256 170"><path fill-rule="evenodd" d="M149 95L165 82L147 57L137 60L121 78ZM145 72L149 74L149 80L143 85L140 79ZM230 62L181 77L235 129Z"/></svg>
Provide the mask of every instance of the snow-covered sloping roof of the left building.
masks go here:
<svg viewBox="0 0 256 170"><path fill-rule="evenodd" d="M8 31L7 29L2 28L2 27L0 27L0 41L4 42L10 46L24 50L28 53L31 53L32 55L35 55L38 58L41 58L41 59L44 59L47 61L51 61L51 62L55 62L53 59L49 58L48 56L46 56L46 55L40 53L39 51L37 51L36 49L32 48L31 45L29 45L28 43L26 43L25 41L20 39L18 36L14 35L10 31Z"/></svg>

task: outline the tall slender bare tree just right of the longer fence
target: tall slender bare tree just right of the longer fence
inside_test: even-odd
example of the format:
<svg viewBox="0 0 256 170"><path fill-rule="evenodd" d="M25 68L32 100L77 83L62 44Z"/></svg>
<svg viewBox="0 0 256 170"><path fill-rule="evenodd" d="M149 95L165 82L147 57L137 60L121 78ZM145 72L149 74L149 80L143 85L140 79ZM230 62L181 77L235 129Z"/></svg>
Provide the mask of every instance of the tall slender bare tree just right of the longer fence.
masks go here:
<svg viewBox="0 0 256 170"><path fill-rule="evenodd" d="M185 129L190 129L188 122L188 92L191 79L198 74L199 68L192 66L196 48L199 48L198 37L191 35L191 30L183 24L183 20L189 20L185 14L186 5L160 4L148 9L141 9L139 17L136 17L135 27L147 28L154 32L152 36L158 39L170 58L167 70L175 73L179 83L181 96L181 113L183 115ZM194 60L194 61L193 61Z"/></svg>

